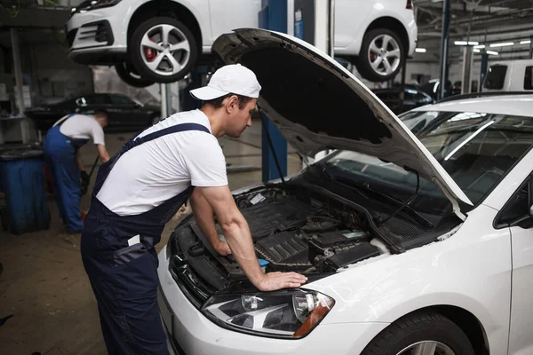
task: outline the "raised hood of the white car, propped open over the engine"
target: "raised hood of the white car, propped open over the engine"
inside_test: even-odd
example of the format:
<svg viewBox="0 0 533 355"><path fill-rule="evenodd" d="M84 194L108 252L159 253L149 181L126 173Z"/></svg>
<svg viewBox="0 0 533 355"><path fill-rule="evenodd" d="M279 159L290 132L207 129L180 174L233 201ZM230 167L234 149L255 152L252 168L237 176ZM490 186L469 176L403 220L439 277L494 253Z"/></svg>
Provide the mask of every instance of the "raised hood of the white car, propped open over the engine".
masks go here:
<svg viewBox="0 0 533 355"><path fill-rule="evenodd" d="M326 149L369 154L439 185L452 202L472 205L411 131L364 84L326 53L296 37L258 28L219 36L212 51L249 67L262 86L259 107L299 154ZM462 202L462 203L461 203Z"/></svg>

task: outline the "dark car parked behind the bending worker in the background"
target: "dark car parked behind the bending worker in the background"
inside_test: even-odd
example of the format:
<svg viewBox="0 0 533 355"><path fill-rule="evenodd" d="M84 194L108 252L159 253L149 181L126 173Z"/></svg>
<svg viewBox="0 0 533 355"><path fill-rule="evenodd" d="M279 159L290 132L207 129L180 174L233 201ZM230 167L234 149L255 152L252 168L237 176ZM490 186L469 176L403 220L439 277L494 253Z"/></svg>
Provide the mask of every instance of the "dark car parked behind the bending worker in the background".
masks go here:
<svg viewBox="0 0 533 355"><path fill-rule="evenodd" d="M93 114L104 109L109 114L106 131L144 130L159 120L161 108L143 105L136 99L117 93L92 93L51 105L32 107L25 114L36 124L36 130L49 130L66 114Z"/></svg>

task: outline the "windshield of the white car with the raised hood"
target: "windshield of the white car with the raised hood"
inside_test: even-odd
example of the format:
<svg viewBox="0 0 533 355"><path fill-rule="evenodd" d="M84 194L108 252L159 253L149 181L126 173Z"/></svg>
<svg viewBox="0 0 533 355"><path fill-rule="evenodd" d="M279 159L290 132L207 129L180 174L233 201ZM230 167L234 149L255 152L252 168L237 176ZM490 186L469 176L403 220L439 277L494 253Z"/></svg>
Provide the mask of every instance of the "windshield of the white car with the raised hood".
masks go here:
<svg viewBox="0 0 533 355"><path fill-rule="evenodd" d="M475 112L410 112L402 122L426 146L474 205L497 185L533 142L533 117ZM390 162L352 151L330 154L322 164L332 177L370 186L405 201L415 191L416 174ZM451 206L433 181L420 178L410 207L444 215Z"/></svg>

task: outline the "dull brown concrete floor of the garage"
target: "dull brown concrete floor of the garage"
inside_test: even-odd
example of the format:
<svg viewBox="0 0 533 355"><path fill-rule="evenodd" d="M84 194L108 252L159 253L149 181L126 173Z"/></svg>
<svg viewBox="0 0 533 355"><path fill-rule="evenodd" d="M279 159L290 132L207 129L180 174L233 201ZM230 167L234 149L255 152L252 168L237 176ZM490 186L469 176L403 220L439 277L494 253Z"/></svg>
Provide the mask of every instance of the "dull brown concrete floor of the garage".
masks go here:
<svg viewBox="0 0 533 355"><path fill-rule="evenodd" d="M115 154L131 133L107 135L109 154ZM261 126L254 121L242 138L221 138L230 168L261 165ZM289 148L288 173L300 170L297 154ZM91 170L96 149L82 148L87 171ZM96 172L91 177L94 181ZM261 181L261 170L228 173L230 188ZM90 190L91 191L91 190ZM0 349L6 355L99 355L106 354L100 332L96 300L84 272L80 256L80 234L69 235L63 228L58 209L49 196L52 215L50 229L13 235L0 229L0 318L13 314L0 327ZM2 203L0 198L0 203ZM82 209L90 206L90 193L82 199ZM169 222L159 251L166 245L179 220Z"/></svg>

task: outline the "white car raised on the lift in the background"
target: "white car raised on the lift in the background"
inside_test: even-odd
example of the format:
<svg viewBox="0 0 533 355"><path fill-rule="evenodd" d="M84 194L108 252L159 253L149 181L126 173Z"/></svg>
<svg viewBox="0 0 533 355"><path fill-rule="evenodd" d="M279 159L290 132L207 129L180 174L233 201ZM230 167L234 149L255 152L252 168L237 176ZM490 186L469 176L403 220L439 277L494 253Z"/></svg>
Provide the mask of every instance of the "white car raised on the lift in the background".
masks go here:
<svg viewBox="0 0 533 355"><path fill-rule="evenodd" d="M336 0L335 55L383 82L416 47L411 0ZM260 0L89 0L65 25L69 57L115 65L134 86L172 83L187 75L211 44L234 28L259 26Z"/></svg>

